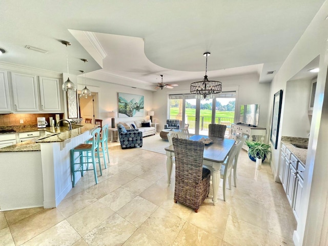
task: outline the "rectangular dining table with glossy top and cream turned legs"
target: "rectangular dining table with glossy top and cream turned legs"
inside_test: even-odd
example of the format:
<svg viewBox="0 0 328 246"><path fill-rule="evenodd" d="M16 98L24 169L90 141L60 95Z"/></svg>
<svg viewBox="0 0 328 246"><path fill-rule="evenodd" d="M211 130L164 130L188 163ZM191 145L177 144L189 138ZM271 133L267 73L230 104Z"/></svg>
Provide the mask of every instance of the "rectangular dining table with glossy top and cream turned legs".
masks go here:
<svg viewBox="0 0 328 246"><path fill-rule="evenodd" d="M202 141L208 139L209 136L193 135L189 139L193 141ZM212 186L213 186L213 204L217 202L217 191L220 183L220 168L221 164L226 160L230 150L235 144L234 139L210 137L212 142L210 144L204 144L203 153L203 166L211 170ZM205 141L208 143L209 141ZM174 149L173 145L165 148L167 155L167 173L168 173L168 186L171 183L171 174L173 167Z"/></svg>

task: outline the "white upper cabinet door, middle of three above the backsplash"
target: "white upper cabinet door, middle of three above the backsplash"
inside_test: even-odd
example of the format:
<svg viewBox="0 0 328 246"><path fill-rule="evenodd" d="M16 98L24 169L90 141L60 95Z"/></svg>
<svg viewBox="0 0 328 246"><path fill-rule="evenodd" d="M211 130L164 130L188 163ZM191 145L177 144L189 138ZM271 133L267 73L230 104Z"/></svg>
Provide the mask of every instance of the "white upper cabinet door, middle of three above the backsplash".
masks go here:
<svg viewBox="0 0 328 246"><path fill-rule="evenodd" d="M11 73L11 83L15 111L38 111L36 76Z"/></svg>

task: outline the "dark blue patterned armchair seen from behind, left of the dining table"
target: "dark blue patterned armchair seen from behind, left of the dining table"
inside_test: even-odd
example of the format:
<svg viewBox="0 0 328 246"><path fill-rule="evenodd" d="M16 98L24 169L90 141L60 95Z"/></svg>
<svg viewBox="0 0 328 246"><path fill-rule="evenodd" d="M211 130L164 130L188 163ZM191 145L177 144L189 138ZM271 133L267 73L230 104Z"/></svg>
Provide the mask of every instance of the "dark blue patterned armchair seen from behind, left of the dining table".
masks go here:
<svg viewBox="0 0 328 246"><path fill-rule="evenodd" d="M138 129L126 130L122 124L117 124L117 131L122 149L142 147L142 132Z"/></svg>

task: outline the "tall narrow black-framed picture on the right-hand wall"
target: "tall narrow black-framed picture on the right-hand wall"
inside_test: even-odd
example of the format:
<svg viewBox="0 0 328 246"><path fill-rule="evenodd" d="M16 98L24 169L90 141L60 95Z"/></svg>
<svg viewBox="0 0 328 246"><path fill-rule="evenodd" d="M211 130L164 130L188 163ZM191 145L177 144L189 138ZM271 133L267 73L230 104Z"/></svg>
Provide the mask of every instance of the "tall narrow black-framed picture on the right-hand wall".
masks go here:
<svg viewBox="0 0 328 246"><path fill-rule="evenodd" d="M278 91L273 98L270 140L275 149L277 149L277 145L278 145L281 103L282 103L282 90Z"/></svg>

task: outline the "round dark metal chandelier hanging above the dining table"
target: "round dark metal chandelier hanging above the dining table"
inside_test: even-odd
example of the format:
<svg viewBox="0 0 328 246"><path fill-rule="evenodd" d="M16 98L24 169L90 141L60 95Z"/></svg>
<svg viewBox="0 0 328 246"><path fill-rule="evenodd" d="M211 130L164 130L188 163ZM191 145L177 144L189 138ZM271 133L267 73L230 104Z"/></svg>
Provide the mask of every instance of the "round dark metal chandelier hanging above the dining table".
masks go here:
<svg viewBox="0 0 328 246"><path fill-rule="evenodd" d="M190 93L196 94L196 98L209 99L214 98L213 94L221 93L222 83L220 81L209 80L207 76L207 57L211 55L210 52L203 54L206 56L206 70L205 76L202 81L194 82L190 84Z"/></svg>

